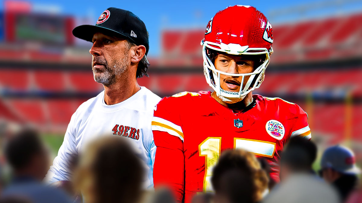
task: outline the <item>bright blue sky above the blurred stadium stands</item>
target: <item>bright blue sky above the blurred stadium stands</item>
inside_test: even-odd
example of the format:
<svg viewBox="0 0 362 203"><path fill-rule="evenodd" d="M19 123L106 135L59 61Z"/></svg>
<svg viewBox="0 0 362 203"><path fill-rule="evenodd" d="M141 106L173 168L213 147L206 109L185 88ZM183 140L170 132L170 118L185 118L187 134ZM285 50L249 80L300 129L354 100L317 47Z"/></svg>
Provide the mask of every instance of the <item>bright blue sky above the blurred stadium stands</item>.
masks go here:
<svg viewBox="0 0 362 203"><path fill-rule="evenodd" d="M331 0L331 2L336 0ZM35 8L44 11L47 8L53 8L60 14L69 14L76 17L88 17L95 24L99 15L108 7L117 7L132 11L140 17L146 24L150 34L150 52L149 55L157 56L160 51L160 34L163 29L186 29L186 28L204 28L212 16L219 10L229 5L252 5L260 10L270 20L271 24L280 22L303 20L305 18L319 18L331 16L334 14L345 14L349 12L362 12L362 1L349 4L324 6L323 8L312 9L318 2L324 2L330 5L328 1L313 0L183 0L183 1L165 1L165 0L31 0ZM332 4L332 3L331 3ZM272 17L271 13L278 13L281 9L291 7L302 7L307 5L305 12L291 12L290 14ZM0 4L3 9L4 4ZM311 7L311 9L309 9Z"/></svg>

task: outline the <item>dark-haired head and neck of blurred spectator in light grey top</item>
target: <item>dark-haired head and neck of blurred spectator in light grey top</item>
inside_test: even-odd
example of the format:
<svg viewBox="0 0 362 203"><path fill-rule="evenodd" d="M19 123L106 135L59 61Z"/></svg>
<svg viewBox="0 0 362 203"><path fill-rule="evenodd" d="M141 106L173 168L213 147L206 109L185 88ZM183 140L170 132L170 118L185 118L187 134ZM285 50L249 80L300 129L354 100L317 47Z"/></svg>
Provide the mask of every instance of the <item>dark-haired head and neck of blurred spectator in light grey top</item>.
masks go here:
<svg viewBox="0 0 362 203"><path fill-rule="evenodd" d="M314 174L312 164L316 155L317 147L312 141L300 137L290 139L280 159L280 180L296 173Z"/></svg>

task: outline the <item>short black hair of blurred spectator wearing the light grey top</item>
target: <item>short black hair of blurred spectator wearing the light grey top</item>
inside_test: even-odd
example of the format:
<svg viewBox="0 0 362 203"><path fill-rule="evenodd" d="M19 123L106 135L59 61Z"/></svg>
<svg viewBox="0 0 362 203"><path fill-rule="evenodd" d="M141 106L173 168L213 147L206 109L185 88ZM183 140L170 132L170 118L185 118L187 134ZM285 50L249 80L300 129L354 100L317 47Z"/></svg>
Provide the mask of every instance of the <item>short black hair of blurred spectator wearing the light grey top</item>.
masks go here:
<svg viewBox="0 0 362 203"><path fill-rule="evenodd" d="M294 172L312 168L317 156L317 147L303 137L291 138L281 155L281 164L286 164Z"/></svg>

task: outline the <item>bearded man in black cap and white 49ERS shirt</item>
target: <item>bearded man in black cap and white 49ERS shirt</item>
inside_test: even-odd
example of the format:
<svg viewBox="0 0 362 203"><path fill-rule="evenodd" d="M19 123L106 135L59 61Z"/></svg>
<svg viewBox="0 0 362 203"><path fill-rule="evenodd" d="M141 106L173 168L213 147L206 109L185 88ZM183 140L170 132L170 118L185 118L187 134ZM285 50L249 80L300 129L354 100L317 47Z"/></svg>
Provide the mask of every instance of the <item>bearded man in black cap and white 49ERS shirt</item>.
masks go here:
<svg viewBox="0 0 362 203"><path fill-rule="evenodd" d="M161 98L140 87L136 80L148 75L150 65L146 58L149 48L146 26L132 12L111 7L101 14L96 25L78 26L73 35L93 43L89 52L94 80L104 86L104 91L81 104L71 117L46 181L66 187L72 178L72 160L86 143L100 136L118 136L129 139L138 148L147 166L144 186L153 187L156 147L151 120Z"/></svg>

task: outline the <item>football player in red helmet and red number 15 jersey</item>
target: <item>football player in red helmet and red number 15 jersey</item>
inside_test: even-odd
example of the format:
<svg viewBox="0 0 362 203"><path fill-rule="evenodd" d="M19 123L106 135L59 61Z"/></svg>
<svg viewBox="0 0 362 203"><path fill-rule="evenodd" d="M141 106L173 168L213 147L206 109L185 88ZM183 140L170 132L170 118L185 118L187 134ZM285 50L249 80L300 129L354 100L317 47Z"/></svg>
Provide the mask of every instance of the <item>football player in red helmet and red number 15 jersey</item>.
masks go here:
<svg viewBox="0 0 362 203"><path fill-rule="evenodd" d="M212 167L220 153L243 148L265 157L278 181L278 159L290 138L311 139L307 114L280 98L253 95L273 53L273 29L264 14L236 5L209 21L201 42L206 81L214 90L182 92L156 106L155 187L171 187L178 202L212 191Z"/></svg>

